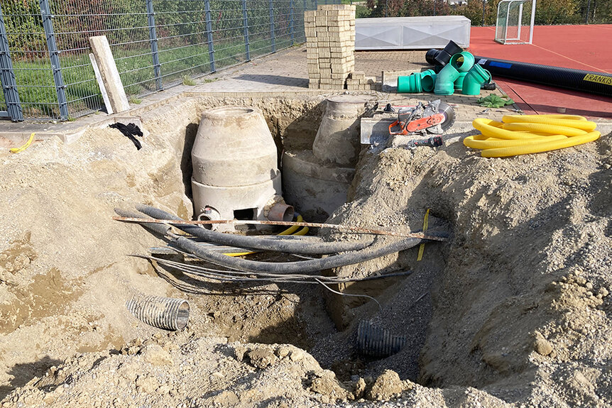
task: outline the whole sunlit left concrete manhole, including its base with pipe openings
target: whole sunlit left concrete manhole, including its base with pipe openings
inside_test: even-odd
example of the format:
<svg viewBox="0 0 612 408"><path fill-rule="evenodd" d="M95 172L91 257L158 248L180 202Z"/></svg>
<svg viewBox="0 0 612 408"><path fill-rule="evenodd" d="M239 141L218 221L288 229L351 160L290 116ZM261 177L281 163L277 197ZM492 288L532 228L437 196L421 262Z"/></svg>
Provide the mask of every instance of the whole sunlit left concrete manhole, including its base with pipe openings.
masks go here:
<svg viewBox="0 0 612 408"><path fill-rule="evenodd" d="M276 145L258 109L222 106L205 111L191 155L199 219L266 219L269 214L293 219L293 208L283 206L280 198ZM234 226L217 224L216 229Z"/></svg>

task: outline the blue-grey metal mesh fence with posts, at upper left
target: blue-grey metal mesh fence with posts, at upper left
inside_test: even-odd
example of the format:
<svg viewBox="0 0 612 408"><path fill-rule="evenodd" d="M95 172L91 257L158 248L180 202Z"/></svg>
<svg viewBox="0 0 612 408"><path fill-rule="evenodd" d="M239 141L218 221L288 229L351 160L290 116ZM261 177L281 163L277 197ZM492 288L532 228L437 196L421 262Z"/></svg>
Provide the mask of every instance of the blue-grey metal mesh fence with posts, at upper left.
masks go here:
<svg viewBox="0 0 612 408"><path fill-rule="evenodd" d="M304 11L340 2L2 0L0 116L63 121L103 109L89 60L94 35L109 39L126 94L138 102L303 43Z"/></svg>

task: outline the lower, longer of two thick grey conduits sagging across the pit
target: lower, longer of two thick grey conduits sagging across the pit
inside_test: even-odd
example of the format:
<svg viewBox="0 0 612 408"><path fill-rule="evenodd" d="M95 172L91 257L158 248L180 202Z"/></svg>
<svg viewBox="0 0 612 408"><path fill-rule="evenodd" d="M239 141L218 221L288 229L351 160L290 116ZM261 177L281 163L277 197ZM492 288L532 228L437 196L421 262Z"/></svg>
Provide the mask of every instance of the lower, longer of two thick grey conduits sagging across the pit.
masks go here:
<svg viewBox="0 0 612 408"><path fill-rule="evenodd" d="M141 218L134 216L131 211L124 211L121 209L115 209L115 212L120 216L128 216L133 218ZM168 227L163 224L151 224L143 222L141 226L147 228L155 233L167 234ZM203 229L203 228L202 228ZM391 253L397 253L401 250L406 250L417 246L418 244L427 240L420 238L403 238L400 241L388 243L378 248L366 248L362 250L356 250L350 253L342 253L340 255L332 255L327 258L301 260L297 262L261 262L256 260L246 260L241 258L233 258L231 256L223 255L212 250L203 248L197 245L197 243L190 239L177 237L173 238L173 242L188 253L196 255L198 258L208 260L216 265L222 265L226 268L235 270L242 270L246 272L268 272L268 273L308 273L316 272L319 270L338 268L340 266L354 265L356 263L365 262L381 256L390 255Z"/></svg>

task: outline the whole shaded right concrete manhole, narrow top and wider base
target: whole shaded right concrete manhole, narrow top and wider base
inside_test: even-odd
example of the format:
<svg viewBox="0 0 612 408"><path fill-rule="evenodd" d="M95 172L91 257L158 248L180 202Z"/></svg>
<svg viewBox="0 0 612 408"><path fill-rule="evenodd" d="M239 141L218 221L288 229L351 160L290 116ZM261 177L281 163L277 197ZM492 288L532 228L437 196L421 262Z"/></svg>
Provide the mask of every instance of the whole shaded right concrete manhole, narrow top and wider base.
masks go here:
<svg viewBox="0 0 612 408"><path fill-rule="evenodd" d="M312 150L283 154L285 198L305 219L324 221L346 202L361 148L359 119L371 99L330 97Z"/></svg>

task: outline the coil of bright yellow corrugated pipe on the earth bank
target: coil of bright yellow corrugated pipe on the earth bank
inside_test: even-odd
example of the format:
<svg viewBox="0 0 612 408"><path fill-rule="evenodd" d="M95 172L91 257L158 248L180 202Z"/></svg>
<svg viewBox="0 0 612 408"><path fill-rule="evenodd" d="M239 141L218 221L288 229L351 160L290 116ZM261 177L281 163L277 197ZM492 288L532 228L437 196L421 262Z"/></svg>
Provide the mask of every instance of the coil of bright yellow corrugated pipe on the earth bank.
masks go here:
<svg viewBox="0 0 612 408"><path fill-rule="evenodd" d="M468 136L464 145L481 149L483 158L569 148L601 136L596 123L577 115L506 115L501 122L477 118L472 125L481 134Z"/></svg>

